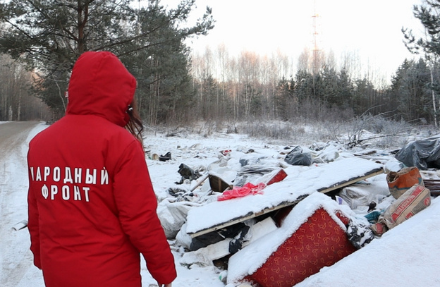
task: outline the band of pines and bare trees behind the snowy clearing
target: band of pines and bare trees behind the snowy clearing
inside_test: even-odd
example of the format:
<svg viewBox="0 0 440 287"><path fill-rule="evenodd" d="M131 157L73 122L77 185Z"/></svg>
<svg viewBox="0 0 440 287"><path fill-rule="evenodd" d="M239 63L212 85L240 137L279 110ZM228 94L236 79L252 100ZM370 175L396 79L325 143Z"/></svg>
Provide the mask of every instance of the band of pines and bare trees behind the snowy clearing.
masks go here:
<svg viewBox="0 0 440 287"><path fill-rule="evenodd" d="M305 51L230 56L223 45L196 54L188 39L215 29L212 10L188 23L196 0L0 1L0 121L63 116L73 63L84 51L112 51L138 80L146 125L197 121L347 121L382 116L438 126L440 1L414 6L423 37L402 29L414 58L389 79L360 73L355 56ZM336 64L338 62L338 64ZM293 68L295 67L295 68Z"/></svg>

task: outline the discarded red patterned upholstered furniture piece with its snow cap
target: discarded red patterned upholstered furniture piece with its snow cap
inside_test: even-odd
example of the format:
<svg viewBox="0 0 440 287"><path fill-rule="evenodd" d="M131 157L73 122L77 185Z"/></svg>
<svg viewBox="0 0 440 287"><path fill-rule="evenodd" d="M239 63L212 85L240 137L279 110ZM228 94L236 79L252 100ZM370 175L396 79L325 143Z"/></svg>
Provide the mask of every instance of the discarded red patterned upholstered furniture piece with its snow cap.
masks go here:
<svg viewBox="0 0 440 287"><path fill-rule="evenodd" d="M338 208L322 193L299 202L280 228L229 259L228 283L291 287L355 252L346 235L349 219Z"/></svg>

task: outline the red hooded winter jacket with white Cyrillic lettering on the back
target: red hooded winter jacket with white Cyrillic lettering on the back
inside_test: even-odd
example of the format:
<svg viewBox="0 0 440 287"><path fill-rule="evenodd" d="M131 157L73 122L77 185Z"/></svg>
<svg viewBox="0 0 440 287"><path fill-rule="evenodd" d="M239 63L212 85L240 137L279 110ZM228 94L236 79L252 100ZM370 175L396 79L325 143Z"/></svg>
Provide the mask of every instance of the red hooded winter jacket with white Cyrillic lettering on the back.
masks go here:
<svg viewBox="0 0 440 287"><path fill-rule="evenodd" d="M135 87L113 54L82 54L66 116L30 142L30 249L47 287L141 286L140 253L159 283L176 278L145 154L123 128Z"/></svg>

